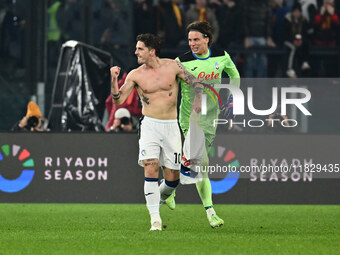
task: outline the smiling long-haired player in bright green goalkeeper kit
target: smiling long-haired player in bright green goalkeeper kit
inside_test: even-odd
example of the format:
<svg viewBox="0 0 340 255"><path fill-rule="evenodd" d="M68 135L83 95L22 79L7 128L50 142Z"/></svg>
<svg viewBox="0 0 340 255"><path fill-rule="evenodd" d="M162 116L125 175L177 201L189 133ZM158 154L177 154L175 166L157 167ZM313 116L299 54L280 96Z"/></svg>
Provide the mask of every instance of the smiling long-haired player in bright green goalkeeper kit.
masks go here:
<svg viewBox="0 0 340 255"><path fill-rule="evenodd" d="M221 83L223 71L228 74L231 84L239 86L240 75L228 53L223 50L210 49L209 47L212 43L212 29L210 24L205 21L193 22L188 25L187 34L191 51L179 56L176 60L181 62L191 74L212 87L214 84ZM218 91L218 89L216 90ZM210 94L206 97L206 114L200 115L200 124L205 135L205 155L207 155L216 135L216 127L213 127L213 120L218 119L220 113L219 106L216 104L216 102L218 102L217 97L214 93L209 93L207 90L206 93ZM192 104L195 100L193 99L194 93L192 92L192 88L190 88L187 83L181 82L181 95L179 123L186 136L189 129L190 114L193 108ZM213 97L215 99L212 99ZM232 105L232 96L228 99L228 102ZM195 111L197 112L197 109ZM207 158L207 160L202 161L201 166L208 166L208 164L209 160ZM224 221L217 216L213 208L212 191L208 173L203 172L203 175L203 181L196 183L196 188L203 206L206 209L210 226L216 228L222 226ZM175 207L174 196L175 194L166 201L170 209L174 209Z"/></svg>

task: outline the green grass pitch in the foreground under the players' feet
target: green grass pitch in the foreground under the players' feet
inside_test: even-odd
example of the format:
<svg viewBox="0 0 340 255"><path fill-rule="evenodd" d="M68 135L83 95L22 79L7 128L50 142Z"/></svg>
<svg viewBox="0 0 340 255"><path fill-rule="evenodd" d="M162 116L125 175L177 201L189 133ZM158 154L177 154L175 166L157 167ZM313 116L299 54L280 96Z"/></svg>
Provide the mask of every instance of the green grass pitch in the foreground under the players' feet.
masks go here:
<svg viewBox="0 0 340 255"><path fill-rule="evenodd" d="M149 232L145 205L0 204L0 254L340 254L340 206L162 206Z"/></svg>

